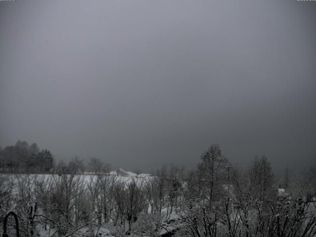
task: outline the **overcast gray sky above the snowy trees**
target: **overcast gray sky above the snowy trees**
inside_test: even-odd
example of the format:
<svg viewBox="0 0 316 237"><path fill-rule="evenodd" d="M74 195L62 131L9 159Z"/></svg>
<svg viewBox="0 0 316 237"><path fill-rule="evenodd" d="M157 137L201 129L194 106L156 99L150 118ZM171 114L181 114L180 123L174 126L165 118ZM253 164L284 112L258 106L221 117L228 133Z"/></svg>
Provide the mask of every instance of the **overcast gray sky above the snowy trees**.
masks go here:
<svg viewBox="0 0 316 237"><path fill-rule="evenodd" d="M316 1L0 1L0 145L150 171L316 158Z"/></svg>

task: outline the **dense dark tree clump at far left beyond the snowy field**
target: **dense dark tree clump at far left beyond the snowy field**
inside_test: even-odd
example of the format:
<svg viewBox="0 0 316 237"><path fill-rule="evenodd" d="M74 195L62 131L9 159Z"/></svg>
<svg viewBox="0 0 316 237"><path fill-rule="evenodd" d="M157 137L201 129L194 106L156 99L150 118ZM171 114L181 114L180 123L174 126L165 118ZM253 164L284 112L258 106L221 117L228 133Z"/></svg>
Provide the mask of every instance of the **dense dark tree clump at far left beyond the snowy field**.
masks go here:
<svg viewBox="0 0 316 237"><path fill-rule="evenodd" d="M51 172L54 158L36 143L18 140L14 146L0 147L0 172Z"/></svg>

